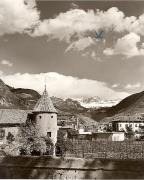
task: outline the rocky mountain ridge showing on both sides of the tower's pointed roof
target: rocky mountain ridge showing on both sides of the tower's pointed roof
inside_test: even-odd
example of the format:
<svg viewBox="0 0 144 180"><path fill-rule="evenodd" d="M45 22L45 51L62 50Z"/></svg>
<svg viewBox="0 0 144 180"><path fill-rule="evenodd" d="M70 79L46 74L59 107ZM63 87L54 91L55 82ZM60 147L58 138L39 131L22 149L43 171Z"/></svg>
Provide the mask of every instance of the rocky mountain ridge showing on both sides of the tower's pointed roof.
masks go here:
<svg viewBox="0 0 144 180"><path fill-rule="evenodd" d="M40 94L32 89L13 88L6 85L0 80L0 108L1 109L23 109L32 110L40 98ZM88 122L95 123L89 113L88 109L81 106L79 102L73 99L61 99L51 97L54 106L58 111L60 117L72 117L76 115L80 121L87 125ZM60 118L58 117L58 119ZM83 120L82 120L83 119ZM80 122L80 123L81 123Z"/></svg>

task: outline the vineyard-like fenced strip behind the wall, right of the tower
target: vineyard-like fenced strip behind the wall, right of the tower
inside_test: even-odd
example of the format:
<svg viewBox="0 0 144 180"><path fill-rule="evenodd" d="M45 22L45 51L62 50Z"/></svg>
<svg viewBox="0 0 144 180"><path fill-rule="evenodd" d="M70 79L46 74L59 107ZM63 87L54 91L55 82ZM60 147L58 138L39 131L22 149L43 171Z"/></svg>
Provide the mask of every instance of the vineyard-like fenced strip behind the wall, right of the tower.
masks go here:
<svg viewBox="0 0 144 180"><path fill-rule="evenodd" d="M144 159L143 141L70 140L65 156L102 159Z"/></svg>

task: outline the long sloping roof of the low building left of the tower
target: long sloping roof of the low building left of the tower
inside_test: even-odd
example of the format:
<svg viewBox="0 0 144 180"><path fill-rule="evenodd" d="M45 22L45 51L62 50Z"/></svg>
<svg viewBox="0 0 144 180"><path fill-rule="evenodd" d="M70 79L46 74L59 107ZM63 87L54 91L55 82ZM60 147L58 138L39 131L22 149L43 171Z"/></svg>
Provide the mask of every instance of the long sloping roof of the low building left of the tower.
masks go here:
<svg viewBox="0 0 144 180"><path fill-rule="evenodd" d="M0 124L21 124L27 120L31 111L19 109L0 109Z"/></svg>

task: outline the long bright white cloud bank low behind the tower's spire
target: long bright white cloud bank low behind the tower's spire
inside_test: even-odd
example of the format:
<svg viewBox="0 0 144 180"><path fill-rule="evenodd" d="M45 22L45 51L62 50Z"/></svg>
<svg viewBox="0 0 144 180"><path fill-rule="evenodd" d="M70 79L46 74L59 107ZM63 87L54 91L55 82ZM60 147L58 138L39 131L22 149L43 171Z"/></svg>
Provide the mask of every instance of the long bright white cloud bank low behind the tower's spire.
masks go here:
<svg viewBox="0 0 144 180"><path fill-rule="evenodd" d="M2 80L10 86L16 88L31 88L38 92L44 89L44 80L47 80L47 89L50 95L63 98L74 98L81 96L100 96L107 99L124 98L129 94L126 92L117 92L107 87L104 82L79 79L77 77L65 76L55 72L40 74L13 74L3 75Z"/></svg>

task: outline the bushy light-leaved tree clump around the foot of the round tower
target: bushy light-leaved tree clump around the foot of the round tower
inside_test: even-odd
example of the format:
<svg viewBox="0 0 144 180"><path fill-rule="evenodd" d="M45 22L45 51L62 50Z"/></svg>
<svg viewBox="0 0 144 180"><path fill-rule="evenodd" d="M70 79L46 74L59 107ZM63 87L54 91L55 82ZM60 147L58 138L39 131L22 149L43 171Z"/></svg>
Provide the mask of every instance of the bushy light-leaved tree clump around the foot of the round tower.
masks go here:
<svg viewBox="0 0 144 180"><path fill-rule="evenodd" d="M6 143L1 145L1 152L5 155L51 155L53 143L49 137L43 137L39 129L32 123L23 124L16 137L9 132Z"/></svg>

